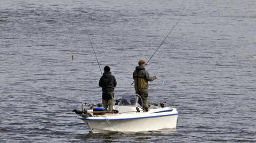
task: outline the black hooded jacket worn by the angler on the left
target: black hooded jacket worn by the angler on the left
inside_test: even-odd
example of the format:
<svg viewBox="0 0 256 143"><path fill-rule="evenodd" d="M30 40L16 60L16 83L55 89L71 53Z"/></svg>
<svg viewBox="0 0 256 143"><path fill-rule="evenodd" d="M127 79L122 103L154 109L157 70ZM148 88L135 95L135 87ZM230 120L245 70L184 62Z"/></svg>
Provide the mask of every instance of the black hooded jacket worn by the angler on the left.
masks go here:
<svg viewBox="0 0 256 143"><path fill-rule="evenodd" d="M116 78L114 75L111 75L111 72L105 71L100 78L99 86L102 87L102 91L114 91L116 87Z"/></svg>

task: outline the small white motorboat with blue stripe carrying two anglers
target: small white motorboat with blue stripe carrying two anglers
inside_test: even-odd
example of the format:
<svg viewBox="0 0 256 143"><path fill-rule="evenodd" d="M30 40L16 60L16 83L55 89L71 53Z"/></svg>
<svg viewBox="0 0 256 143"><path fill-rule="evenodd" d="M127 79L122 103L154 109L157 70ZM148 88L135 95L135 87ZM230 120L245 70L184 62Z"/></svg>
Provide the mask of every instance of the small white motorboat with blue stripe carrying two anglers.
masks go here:
<svg viewBox="0 0 256 143"><path fill-rule="evenodd" d="M103 107L94 107L85 111L82 105L78 119L83 120L91 132L141 132L176 128L178 111L176 108L150 105L143 111L139 95L123 95L114 105L113 112L103 111ZM102 110L101 110L102 108ZM118 113L117 113L118 112Z"/></svg>

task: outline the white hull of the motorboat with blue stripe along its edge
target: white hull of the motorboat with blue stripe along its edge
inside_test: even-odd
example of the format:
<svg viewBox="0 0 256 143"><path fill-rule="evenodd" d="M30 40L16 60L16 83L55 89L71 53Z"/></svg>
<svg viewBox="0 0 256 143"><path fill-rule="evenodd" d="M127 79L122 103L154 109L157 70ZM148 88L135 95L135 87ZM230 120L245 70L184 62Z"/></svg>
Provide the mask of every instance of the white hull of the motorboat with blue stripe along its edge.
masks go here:
<svg viewBox="0 0 256 143"><path fill-rule="evenodd" d="M103 119L82 119L93 133L100 132L142 132L160 129L176 128L178 113L141 116L135 118L113 119L104 116Z"/></svg>

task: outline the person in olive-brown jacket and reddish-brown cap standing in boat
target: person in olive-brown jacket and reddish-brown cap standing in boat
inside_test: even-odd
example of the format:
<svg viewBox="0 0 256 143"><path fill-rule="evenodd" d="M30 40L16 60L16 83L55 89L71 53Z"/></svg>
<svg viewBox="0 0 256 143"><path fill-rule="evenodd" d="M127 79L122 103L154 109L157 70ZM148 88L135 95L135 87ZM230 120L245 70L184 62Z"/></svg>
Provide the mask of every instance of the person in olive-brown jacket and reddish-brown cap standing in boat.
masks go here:
<svg viewBox="0 0 256 143"><path fill-rule="evenodd" d="M158 77L150 77L148 71L145 70L145 61L140 60L138 62L139 66L136 66L133 72L134 88L136 94L140 95L142 98L142 106L145 108L148 99L148 81L153 81L158 79Z"/></svg>

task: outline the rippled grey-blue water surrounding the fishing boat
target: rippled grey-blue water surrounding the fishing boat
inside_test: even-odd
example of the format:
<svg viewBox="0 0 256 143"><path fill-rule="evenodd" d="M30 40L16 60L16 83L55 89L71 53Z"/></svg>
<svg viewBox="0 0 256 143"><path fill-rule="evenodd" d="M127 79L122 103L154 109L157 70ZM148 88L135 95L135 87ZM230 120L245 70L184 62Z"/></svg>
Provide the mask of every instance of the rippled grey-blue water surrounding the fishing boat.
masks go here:
<svg viewBox="0 0 256 143"><path fill-rule="evenodd" d="M255 7L253 0L1 0L0 142L256 142ZM169 98L177 129L92 134L71 112L79 103L46 97L101 102L85 28L101 70L109 65L117 79L116 98L133 93L138 61L149 60L182 15L146 66L159 77L148 100Z"/></svg>

